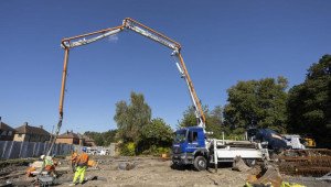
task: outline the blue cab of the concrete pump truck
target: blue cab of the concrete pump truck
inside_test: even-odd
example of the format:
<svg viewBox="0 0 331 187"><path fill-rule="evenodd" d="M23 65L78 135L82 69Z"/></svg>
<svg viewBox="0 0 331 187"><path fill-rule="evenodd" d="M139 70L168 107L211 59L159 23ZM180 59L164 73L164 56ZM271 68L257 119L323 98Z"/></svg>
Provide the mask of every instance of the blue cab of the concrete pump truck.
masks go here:
<svg viewBox="0 0 331 187"><path fill-rule="evenodd" d="M190 127L177 130L171 150L172 162L178 165L193 164L196 156L207 161L203 128Z"/></svg>

